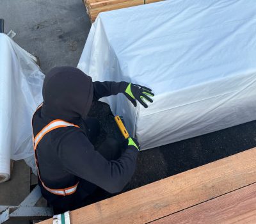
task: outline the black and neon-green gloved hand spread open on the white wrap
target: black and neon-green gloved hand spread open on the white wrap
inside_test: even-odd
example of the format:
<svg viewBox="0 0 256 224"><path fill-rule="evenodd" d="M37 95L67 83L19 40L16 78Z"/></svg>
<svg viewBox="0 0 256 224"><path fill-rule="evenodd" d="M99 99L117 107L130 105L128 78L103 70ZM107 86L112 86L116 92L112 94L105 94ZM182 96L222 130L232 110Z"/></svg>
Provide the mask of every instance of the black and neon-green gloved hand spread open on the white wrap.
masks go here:
<svg viewBox="0 0 256 224"><path fill-rule="evenodd" d="M148 106L145 100L153 102L150 97L154 97L154 93L151 91L150 88L145 86L129 83L125 89L124 95L132 102L133 106L137 106L136 100L138 100L144 108L147 108Z"/></svg>

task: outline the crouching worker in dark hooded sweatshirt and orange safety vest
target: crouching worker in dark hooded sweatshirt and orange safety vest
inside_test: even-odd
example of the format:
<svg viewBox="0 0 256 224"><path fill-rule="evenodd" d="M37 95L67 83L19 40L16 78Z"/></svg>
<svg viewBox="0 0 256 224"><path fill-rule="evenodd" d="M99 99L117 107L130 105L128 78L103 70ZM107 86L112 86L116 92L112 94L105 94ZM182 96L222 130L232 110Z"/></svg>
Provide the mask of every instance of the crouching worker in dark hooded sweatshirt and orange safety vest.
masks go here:
<svg viewBox="0 0 256 224"><path fill-rule="evenodd" d="M140 144L127 140L124 150L107 138L100 147L99 121L88 118L93 100L124 93L145 108L154 96L147 87L126 82L99 82L78 68L56 67L45 76L44 102L33 115L33 140L38 184L54 214L84 205L98 188L122 191L136 167Z"/></svg>

